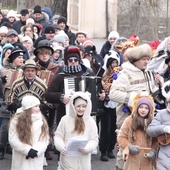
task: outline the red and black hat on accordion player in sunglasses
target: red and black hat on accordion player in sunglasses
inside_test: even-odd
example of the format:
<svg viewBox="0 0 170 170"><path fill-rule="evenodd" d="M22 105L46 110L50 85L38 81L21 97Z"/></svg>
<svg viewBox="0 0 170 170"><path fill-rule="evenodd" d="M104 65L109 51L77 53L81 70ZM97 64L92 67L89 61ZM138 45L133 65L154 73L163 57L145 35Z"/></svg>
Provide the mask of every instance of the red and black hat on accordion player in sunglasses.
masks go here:
<svg viewBox="0 0 170 170"><path fill-rule="evenodd" d="M81 56L80 56L80 50L76 46L68 46L65 49L65 54L64 54L64 64L68 65L67 60L71 57L76 57L78 61L80 62Z"/></svg>

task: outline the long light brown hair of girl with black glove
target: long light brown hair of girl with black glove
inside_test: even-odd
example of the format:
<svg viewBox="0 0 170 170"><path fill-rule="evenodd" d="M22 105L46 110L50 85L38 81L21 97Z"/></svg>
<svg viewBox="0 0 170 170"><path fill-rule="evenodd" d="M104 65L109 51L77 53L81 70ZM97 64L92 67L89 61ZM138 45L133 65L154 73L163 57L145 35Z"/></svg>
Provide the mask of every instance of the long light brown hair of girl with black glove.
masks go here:
<svg viewBox="0 0 170 170"><path fill-rule="evenodd" d="M43 116L43 115L42 115ZM41 126L41 135L39 140L49 140L49 128L47 122L43 116L43 125ZM22 113L17 119L16 131L18 132L19 139L21 142L32 145L32 120L31 120L31 109L28 109Z"/></svg>

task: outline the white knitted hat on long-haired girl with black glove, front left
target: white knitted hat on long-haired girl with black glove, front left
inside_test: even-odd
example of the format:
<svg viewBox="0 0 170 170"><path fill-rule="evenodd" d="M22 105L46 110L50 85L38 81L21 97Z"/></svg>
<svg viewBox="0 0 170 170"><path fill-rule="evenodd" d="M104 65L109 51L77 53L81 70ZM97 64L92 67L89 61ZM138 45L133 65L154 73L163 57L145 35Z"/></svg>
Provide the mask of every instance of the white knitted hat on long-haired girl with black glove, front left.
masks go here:
<svg viewBox="0 0 170 170"><path fill-rule="evenodd" d="M35 96L27 95L23 97L21 105L23 110L27 110L34 106L40 105L40 100Z"/></svg>

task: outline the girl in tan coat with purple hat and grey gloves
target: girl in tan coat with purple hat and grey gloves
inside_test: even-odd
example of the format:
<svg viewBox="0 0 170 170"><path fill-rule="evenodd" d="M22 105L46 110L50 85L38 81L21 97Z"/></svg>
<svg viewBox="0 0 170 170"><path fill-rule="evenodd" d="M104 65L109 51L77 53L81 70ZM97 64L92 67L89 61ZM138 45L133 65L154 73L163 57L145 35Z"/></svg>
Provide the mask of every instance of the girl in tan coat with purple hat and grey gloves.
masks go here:
<svg viewBox="0 0 170 170"><path fill-rule="evenodd" d="M136 95L132 114L128 116L118 135L123 148L124 170L152 170L156 157L157 141L147 136L146 128L154 114L154 101L148 92Z"/></svg>

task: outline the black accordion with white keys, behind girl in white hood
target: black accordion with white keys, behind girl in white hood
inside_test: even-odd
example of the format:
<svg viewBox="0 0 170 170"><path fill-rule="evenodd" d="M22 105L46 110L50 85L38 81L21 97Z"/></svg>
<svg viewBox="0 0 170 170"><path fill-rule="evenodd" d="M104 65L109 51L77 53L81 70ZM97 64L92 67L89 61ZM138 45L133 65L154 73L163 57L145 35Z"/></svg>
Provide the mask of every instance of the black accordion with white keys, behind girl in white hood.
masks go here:
<svg viewBox="0 0 170 170"><path fill-rule="evenodd" d="M81 76L81 77L65 77L64 78L65 94L70 91L88 91L91 93L92 111L91 115L99 113L98 102L99 93L101 93L101 77L97 76ZM66 106L66 113L67 113Z"/></svg>

